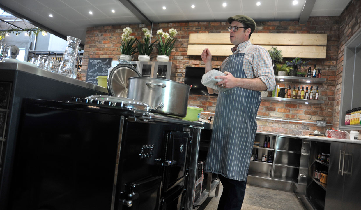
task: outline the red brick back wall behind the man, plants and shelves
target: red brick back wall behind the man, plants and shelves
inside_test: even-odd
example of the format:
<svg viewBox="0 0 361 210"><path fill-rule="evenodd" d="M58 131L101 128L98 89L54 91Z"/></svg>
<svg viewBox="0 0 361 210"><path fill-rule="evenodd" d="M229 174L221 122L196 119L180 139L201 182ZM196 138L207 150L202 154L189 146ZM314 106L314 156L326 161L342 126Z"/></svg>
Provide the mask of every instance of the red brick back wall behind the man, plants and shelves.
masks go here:
<svg viewBox="0 0 361 210"><path fill-rule="evenodd" d="M327 33L326 59L312 59L309 66L316 63L317 68L321 68L322 77L326 78L319 86L320 99L325 103L319 105L269 102L263 101L258 111L259 117L270 117L289 120L316 120L334 123L332 113L335 108L335 86L339 83L339 31L340 17L310 17L306 24L297 21L271 21L256 22L256 33ZM226 22L189 22L189 23L159 23L153 25L153 34L158 29L167 30L174 28L178 31L177 43L171 53L170 60L176 66L177 81L184 81L184 72L187 66L204 67L200 56L187 56L188 37L190 33L228 33L225 30L229 24ZM82 67L82 77L86 76L87 61L89 57L112 57L116 60L119 55L120 35L124 27L131 27L135 37L141 38L142 27L144 25L122 25L122 26L98 26L89 27L84 46L84 59ZM150 27L148 27L150 29ZM153 37L154 39L155 37ZM231 54L231 51L230 51ZM156 50L151 54L151 59L155 60ZM213 67L219 67L225 56L213 56ZM135 59L136 60L136 56ZM287 60L287 59L286 59ZM291 60L291 59L288 59ZM306 59L303 59L306 60ZM308 68L305 67L305 69ZM337 70L337 74L336 74ZM281 87L284 84L279 84ZM286 84L287 86L289 84ZM293 86L306 86L306 84L292 83ZM214 96L190 95L189 105L203 108L205 111L214 112L217 98ZM313 124L289 123L273 120L258 120L258 130L263 132L275 132L283 134L308 134L314 130L325 132L324 127L316 127ZM327 126L329 128L331 126ZM333 127L333 126L332 126Z"/></svg>

